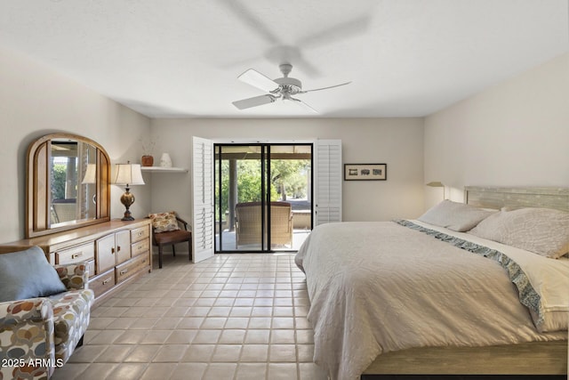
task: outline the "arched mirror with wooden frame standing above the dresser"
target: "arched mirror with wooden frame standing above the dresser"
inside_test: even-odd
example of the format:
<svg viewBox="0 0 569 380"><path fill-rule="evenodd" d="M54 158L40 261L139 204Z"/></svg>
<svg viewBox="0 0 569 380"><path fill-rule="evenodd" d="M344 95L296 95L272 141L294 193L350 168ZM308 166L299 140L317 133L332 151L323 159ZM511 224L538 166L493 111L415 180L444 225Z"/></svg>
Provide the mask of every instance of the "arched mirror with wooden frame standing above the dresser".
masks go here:
<svg viewBox="0 0 569 380"><path fill-rule="evenodd" d="M110 220L110 159L95 141L47 134L28 147L26 238Z"/></svg>

